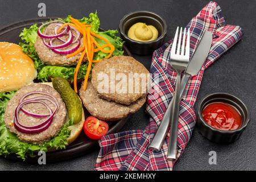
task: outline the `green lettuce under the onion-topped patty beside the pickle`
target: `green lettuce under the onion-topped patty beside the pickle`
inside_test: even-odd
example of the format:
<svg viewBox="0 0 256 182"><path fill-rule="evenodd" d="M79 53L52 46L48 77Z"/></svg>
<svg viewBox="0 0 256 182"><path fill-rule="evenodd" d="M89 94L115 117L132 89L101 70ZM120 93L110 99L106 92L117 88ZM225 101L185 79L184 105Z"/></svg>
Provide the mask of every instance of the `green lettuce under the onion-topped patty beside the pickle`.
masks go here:
<svg viewBox="0 0 256 182"><path fill-rule="evenodd" d="M27 156L36 156L38 151L47 152L49 148L65 148L68 144L67 138L71 134L68 126L73 125L72 120L64 124L56 137L40 145L21 142L15 134L7 129L3 115L8 101L14 94L15 91L0 93L0 155L16 154L19 158L25 160Z"/></svg>

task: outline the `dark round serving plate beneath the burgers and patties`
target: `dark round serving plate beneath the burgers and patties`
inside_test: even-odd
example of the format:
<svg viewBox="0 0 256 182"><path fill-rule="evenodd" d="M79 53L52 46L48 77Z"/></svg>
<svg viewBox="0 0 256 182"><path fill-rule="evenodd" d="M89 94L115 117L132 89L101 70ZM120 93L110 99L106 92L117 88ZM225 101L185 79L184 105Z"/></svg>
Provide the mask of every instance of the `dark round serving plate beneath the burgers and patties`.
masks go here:
<svg viewBox="0 0 256 182"><path fill-rule="evenodd" d="M35 23L43 23L49 20L50 18L37 18L37 19L31 19L31 20L24 20L22 22L11 24L7 27L1 28L0 30L0 42L11 42L18 44L21 42L19 38L20 32L23 30L23 28L28 28L32 24ZM55 18L51 18L55 19ZM102 28L100 28L101 31L104 31ZM125 55L132 56L129 49L127 49L126 46L123 46L123 50L125 51ZM89 116L89 112L84 108L85 111L85 118ZM110 133L116 133L119 131L123 125L127 122L128 117L121 119L120 121L116 122L109 122L109 134ZM52 162L60 162L63 160L68 160L72 158L76 158L77 156L85 155L87 152L95 150L98 147L98 140L91 140L82 131L79 137L71 143L69 146L65 148L65 150L57 150L57 151L51 151L47 152L46 158L47 163ZM13 160L19 160L22 161L22 159L17 158L16 155L7 155L6 158L13 159ZM38 163L38 157L35 158L27 158L25 162L28 163Z"/></svg>

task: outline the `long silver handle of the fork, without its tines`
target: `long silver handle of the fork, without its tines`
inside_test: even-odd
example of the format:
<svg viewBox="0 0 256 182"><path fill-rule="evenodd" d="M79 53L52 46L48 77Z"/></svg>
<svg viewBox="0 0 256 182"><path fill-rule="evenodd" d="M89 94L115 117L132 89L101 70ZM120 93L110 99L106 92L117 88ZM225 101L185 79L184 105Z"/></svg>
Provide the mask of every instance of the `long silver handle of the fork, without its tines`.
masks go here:
<svg viewBox="0 0 256 182"><path fill-rule="evenodd" d="M167 159L176 159L177 154L177 125L179 120L179 110L180 110L180 77L181 72L177 71L177 81L174 94L174 108L171 112L171 130L167 151Z"/></svg>

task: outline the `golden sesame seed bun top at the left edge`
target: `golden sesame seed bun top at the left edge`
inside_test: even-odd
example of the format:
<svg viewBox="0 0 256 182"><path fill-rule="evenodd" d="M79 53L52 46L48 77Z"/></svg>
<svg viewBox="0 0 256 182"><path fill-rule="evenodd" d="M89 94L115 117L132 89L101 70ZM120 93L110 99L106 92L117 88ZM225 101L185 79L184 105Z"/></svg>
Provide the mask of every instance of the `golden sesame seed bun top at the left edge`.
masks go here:
<svg viewBox="0 0 256 182"><path fill-rule="evenodd" d="M17 44L0 42L0 65L0 92L17 90L37 75L34 62Z"/></svg>

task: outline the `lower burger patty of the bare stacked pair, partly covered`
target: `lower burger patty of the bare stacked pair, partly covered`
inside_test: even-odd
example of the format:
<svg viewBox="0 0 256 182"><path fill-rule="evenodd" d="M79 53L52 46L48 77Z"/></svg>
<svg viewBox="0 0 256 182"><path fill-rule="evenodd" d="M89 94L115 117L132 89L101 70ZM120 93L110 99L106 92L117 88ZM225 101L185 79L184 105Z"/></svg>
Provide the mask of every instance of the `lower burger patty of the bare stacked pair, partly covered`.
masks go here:
<svg viewBox="0 0 256 182"><path fill-rule="evenodd" d="M81 86L79 94L82 103L89 113L104 121L117 121L125 118L127 115L138 111L146 102L146 96L142 96L130 105L122 105L114 101L105 100L98 96L91 81L88 81L85 91Z"/></svg>

